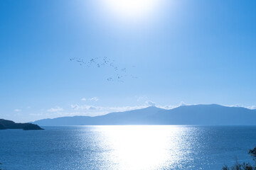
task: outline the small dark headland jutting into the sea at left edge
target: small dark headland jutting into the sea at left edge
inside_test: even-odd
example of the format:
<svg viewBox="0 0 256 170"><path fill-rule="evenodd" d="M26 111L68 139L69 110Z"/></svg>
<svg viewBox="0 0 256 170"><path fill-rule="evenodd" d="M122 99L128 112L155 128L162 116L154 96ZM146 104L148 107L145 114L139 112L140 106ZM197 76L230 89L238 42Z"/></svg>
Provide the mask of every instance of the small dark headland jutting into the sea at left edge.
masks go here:
<svg viewBox="0 0 256 170"><path fill-rule="evenodd" d="M11 120L0 119L0 130L6 129L43 130L43 128L33 123L14 123Z"/></svg>

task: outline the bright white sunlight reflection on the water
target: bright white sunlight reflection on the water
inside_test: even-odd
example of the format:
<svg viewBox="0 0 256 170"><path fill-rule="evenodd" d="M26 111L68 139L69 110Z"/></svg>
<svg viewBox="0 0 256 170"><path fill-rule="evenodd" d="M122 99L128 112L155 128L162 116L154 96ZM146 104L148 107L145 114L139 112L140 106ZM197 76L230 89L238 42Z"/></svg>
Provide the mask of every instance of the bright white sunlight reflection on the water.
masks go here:
<svg viewBox="0 0 256 170"><path fill-rule="evenodd" d="M107 155L110 169L170 169L186 158L191 147L183 137L188 130L181 127L130 125L99 130L105 142L103 149L112 150Z"/></svg>

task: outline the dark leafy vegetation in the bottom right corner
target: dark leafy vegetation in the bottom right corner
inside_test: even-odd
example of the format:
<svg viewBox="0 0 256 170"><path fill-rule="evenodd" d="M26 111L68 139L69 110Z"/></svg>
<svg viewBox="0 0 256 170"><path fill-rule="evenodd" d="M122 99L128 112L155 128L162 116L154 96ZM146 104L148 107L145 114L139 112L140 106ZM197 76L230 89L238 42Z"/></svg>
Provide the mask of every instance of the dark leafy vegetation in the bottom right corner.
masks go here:
<svg viewBox="0 0 256 170"><path fill-rule="evenodd" d="M256 147L254 149L250 149L248 154L250 154L250 157L252 157L252 160L255 162L254 165L245 162L239 164L236 162L235 165L231 167L224 165L222 170L256 170Z"/></svg>

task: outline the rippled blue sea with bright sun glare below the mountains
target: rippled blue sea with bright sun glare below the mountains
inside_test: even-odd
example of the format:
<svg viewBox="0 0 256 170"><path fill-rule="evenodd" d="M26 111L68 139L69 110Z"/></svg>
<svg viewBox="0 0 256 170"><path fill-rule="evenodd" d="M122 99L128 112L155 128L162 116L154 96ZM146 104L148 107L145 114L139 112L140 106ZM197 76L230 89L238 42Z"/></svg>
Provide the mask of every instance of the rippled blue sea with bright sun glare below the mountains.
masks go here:
<svg viewBox="0 0 256 170"><path fill-rule="evenodd" d="M249 162L255 126L71 126L0 130L0 169L221 169Z"/></svg>

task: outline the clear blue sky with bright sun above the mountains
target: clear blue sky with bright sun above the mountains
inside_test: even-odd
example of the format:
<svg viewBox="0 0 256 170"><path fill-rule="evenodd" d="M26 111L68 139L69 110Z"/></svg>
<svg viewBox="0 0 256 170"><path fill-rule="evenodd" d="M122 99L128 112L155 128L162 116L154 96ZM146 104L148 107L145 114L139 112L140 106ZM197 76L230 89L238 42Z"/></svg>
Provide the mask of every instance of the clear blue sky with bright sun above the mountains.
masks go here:
<svg viewBox="0 0 256 170"><path fill-rule="evenodd" d="M0 1L0 118L256 108L256 1ZM80 65L107 57L110 66ZM102 58L101 58L102 59Z"/></svg>

